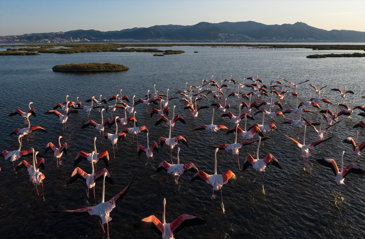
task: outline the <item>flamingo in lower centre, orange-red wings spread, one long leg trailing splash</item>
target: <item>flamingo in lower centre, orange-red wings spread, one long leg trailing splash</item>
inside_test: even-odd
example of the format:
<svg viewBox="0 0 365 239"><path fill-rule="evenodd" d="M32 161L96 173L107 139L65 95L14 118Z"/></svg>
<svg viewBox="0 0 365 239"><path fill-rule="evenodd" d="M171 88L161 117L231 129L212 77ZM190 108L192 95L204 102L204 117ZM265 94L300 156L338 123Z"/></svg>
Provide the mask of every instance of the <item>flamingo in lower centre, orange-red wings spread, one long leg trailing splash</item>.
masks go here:
<svg viewBox="0 0 365 239"><path fill-rule="evenodd" d="M222 186L223 186L223 184L226 184L232 180L237 181L237 177L230 170L228 170L227 172L225 172L223 174L217 174L217 152L218 152L218 148L215 149L215 154L214 154L214 174L209 175L203 171L199 171L193 176L193 178L190 180L190 183L192 183L193 181L198 179L200 181L203 181L205 183L212 185L213 186L213 196L214 196L214 190L216 190L216 191L220 190L220 197L222 199L222 208L223 208L223 212L224 212Z"/></svg>

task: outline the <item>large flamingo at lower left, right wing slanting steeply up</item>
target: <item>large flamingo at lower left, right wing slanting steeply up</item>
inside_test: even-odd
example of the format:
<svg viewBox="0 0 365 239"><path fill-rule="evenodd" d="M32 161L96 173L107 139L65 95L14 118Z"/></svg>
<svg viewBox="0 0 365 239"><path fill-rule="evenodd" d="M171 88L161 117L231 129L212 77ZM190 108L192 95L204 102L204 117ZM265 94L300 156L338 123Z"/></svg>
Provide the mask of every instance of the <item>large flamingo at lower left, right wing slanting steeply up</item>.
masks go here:
<svg viewBox="0 0 365 239"><path fill-rule="evenodd" d="M137 173L136 173L137 174ZM114 197L112 197L112 199L110 199L109 201L105 202L104 201L104 192L105 192L105 178L108 175L107 172L104 173L104 180L103 180L103 195L101 196L101 203L97 204L96 206L93 207L84 207L84 208L80 208L80 209L76 209L76 210L68 210L68 211L61 211L61 212L76 212L78 214L80 213L84 213L87 214L89 213L89 215L97 215L100 217L101 222L99 220L99 223L101 225L101 228L103 228L103 232L105 233L104 230L104 226L103 224L107 223L107 230L108 230L108 238L109 238L109 222L112 220L112 218L109 216L109 213L113 210L113 208L115 208L116 203L119 203L120 200L122 200L124 198L124 196L126 196L134 178L135 175L132 179L132 181L127 185L126 188L123 189L122 192L118 193L117 195L115 195ZM54 212L60 212L60 211L54 211Z"/></svg>

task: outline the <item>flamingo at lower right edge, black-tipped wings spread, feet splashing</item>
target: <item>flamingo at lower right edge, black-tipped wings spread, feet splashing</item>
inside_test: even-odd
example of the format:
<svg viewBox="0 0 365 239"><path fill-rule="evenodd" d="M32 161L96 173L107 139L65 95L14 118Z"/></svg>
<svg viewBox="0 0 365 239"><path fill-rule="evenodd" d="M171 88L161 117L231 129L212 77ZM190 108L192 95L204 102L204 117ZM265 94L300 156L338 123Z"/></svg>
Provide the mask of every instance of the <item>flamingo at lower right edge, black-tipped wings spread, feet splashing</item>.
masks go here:
<svg viewBox="0 0 365 239"><path fill-rule="evenodd" d="M351 163L349 165L347 165L347 167L345 169L343 169L343 154L345 154L345 151L342 151L341 154L341 172L338 170L336 161L331 159L331 158L323 158L323 159L317 159L316 161L319 162L320 164L322 164L323 166L326 166L328 168L331 168L333 173L335 174L335 182L336 184L333 186L333 188L339 183L341 185L340 187L340 193L339 195L341 195L341 188L342 188L342 184L343 180L345 180L345 177L349 174L349 173L354 173L354 174L358 174L358 175L364 175L364 171L359 168L357 165ZM332 192L332 189L330 193Z"/></svg>

